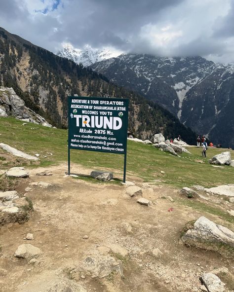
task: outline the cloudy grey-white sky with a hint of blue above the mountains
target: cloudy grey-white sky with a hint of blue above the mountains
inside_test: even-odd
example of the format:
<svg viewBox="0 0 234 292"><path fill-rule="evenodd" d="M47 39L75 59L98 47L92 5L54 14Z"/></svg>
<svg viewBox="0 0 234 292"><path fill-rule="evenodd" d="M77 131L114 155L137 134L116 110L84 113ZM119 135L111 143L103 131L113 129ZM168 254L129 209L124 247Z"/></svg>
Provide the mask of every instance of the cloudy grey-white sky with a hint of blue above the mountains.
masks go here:
<svg viewBox="0 0 234 292"><path fill-rule="evenodd" d="M234 0L0 0L0 27L55 53L70 42L234 62Z"/></svg>

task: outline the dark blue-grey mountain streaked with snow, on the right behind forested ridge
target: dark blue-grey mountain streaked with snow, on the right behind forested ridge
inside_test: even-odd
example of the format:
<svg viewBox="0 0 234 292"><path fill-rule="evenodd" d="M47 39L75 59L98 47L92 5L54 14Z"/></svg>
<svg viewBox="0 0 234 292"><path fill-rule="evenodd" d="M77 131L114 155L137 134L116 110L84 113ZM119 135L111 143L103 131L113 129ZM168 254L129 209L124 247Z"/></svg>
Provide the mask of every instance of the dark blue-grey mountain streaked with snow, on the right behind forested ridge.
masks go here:
<svg viewBox="0 0 234 292"><path fill-rule="evenodd" d="M125 54L91 67L160 104L213 143L234 147L234 64Z"/></svg>

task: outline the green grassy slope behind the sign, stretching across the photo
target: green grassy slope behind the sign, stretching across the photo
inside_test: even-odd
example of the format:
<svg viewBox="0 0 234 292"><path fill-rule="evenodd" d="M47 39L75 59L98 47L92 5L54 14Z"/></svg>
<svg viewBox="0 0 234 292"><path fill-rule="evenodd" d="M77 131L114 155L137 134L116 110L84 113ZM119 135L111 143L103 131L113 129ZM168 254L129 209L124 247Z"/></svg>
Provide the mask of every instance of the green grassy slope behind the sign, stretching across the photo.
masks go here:
<svg viewBox="0 0 234 292"><path fill-rule="evenodd" d="M14 118L0 118L0 142L13 146L28 154L40 153L40 166L46 166L60 161L67 161L66 130L51 129L43 126L23 122ZM205 164L195 162L201 159L201 148L191 147L193 155L182 154L174 157L152 146L128 141L127 175L136 175L145 181L160 179L164 183L174 186L190 186L200 184L205 187L233 183L234 168L215 168L207 159L225 151L224 149L209 148ZM49 153L52 152L53 156ZM232 159L234 151L231 150ZM46 158L43 158L47 155ZM100 168L123 168L123 155L108 154L92 151L71 151L72 163ZM162 175L160 171L165 171Z"/></svg>

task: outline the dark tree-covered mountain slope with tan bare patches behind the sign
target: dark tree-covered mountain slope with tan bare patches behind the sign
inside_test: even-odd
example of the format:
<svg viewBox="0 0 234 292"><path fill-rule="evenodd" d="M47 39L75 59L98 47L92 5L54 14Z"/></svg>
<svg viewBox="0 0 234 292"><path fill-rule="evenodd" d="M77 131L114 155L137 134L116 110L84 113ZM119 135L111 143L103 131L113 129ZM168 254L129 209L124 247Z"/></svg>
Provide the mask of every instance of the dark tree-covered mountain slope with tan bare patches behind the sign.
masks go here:
<svg viewBox="0 0 234 292"><path fill-rule="evenodd" d="M26 107L50 124L67 127L67 96L129 99L129 133L149 139L162 132L166 138L195 142L195 133L169 111L110 83L106 77L54 55L0 28L0 85L12 87Z"/></svg>

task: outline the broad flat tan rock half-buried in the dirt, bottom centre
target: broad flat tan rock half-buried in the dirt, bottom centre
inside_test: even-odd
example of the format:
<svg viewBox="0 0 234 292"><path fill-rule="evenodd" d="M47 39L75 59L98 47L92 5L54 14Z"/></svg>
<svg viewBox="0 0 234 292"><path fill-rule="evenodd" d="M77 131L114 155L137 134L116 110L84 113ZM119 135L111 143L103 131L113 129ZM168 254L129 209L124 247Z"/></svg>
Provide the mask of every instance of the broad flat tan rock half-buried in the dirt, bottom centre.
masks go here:
<svg viewBox="0 0 234 292"><path fill-rule="evenodd" d="M110 255L88 256L81 263L80 270L89 274L91 278L104 278L115 271L123 276L122 262Z"/></svg>

